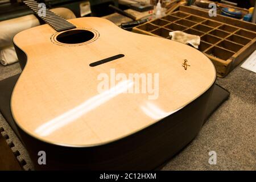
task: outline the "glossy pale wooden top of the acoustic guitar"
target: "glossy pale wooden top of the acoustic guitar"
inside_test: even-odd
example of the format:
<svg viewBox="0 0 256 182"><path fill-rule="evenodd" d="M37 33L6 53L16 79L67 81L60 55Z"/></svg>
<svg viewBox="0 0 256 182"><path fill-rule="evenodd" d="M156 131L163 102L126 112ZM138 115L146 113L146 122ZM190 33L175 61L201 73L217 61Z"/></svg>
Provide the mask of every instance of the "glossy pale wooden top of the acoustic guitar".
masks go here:
<svg viewBox="0 0 256 182"><path fill-rule="evenodd" d="M61 146L97 146L140 131L167 115L152 118L143 107L173 113L205 93L216 78L212 62L196 49L171 40L121 30L101 18L69 20L78 28L92 28L98 37L77 46L56 44L56 32L47 24L20 32L14 43L27 55L27 64L15 85L11 110L27 134ZM94 61L118 54L125 57L90 67ZM187 59L191 65L182 67ZM159 73L159 97L148 94L118 94L101 102L97 76L110 69L117 73ZM97 98L95 100L95 98ZM92 101L92 103L89 103ZM65 114L83 108L79 118L65 123ZM58 122L54 119L63 116ZM69 115L70 117L70 115ZM46 125L48 123L48 126ZM43 127L42 126L46 126ZM36 133L38 129L48 132Z"/></svg>

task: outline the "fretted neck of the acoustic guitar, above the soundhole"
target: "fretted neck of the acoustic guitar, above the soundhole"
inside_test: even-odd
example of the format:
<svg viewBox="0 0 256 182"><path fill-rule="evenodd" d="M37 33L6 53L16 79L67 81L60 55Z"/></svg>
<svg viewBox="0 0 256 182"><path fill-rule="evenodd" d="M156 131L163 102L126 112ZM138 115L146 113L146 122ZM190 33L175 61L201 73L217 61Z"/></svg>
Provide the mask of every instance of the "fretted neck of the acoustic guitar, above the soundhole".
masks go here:
<svg viewBox="0 0 256 182"><path fill-rule="evenodd" d="M34 0L24 0L23 1L32 11L34 11L41 19L44 20L49 26L54 28L57 32L70 30L76 28L75 25L69 23L67 20L61 16L53 13L51 10L42 7L38 2Z"/></svg>

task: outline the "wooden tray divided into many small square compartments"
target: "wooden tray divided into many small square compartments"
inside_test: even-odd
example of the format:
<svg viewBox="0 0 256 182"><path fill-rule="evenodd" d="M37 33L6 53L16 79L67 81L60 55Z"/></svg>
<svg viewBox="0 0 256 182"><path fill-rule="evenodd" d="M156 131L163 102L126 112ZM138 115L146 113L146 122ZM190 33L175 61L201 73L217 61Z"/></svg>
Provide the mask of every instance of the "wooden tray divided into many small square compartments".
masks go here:
<svg viewBox="0 0 256 182"><path fill-rule="evenodd" d="M133 28L134 32L171 39L169 32L199 35L199 50L212 60L218 77L225 77L256 49L256 24L179 6L160 19Z"/></svg>

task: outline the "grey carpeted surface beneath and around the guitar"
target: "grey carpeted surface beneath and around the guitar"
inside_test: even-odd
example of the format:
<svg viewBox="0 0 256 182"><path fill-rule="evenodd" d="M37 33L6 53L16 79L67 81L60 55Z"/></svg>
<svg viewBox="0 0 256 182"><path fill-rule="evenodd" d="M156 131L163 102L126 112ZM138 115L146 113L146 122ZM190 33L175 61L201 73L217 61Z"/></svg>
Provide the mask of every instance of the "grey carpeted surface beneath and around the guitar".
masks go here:
<svg viewBox="0 0 256 182"><path fill-rule="evenodd" d="M19 72L18 64L0 65L0 80ZM229 90L229 100L163 170L256 170L256 74L237 67L217 83ZM1 126L20 151L20 158L26 160L24 168L32 169L26 150L0 114ZM208 163L209 151L216 151L216 165Z"/></svg>

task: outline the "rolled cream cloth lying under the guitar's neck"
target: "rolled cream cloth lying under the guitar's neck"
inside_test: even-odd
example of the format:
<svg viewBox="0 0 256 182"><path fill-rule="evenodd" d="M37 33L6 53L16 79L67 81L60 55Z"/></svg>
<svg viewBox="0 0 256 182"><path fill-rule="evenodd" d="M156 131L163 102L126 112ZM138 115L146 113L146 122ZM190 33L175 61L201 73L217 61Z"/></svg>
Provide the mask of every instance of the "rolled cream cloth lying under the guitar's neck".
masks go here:
<svg viewBox="0 0 256 182"><path fill-rule="evenodd" d="M65 19L76 18L71 10L63 7L52 9L52 11ZM17 62L18 58L13 47L14 35L39 25L38 18L32 14L0 22L0 63L9 65Z"/></svg>

